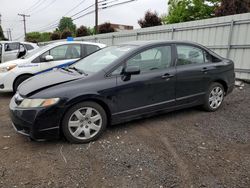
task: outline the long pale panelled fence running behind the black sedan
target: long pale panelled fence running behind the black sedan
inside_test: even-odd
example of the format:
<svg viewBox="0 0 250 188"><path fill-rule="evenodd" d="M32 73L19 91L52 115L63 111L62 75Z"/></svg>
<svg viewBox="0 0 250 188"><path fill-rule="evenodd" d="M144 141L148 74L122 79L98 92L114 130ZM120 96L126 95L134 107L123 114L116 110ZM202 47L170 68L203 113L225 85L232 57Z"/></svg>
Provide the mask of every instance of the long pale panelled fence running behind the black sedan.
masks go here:
<svg viewBox="0 0 250 188"><path fill-rule="evenodd" d="M134 40L200 43L235 62L236 77L250 80L250 13L75 38L107 45Z"/></svg>

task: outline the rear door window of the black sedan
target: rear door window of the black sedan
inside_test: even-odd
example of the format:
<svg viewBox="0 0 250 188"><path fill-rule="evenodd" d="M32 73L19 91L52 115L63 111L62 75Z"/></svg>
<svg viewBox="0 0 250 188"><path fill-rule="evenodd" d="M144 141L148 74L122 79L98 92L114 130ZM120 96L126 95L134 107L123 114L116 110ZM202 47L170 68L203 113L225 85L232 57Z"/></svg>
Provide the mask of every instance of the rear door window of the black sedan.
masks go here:
<svg viewBox="0 0 250 188"><path fill-rule="evenodd" d="M177 45L177 65L204 63L204 51L188 45Z"/></svg>

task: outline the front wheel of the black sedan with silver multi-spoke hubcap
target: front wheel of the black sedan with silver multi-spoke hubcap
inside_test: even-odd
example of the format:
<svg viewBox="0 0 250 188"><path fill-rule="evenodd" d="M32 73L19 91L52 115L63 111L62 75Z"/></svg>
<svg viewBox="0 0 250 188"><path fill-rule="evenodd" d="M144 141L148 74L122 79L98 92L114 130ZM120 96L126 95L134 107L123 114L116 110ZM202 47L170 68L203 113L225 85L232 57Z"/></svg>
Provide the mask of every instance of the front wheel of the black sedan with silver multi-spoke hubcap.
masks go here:
<svg viewBox="0 0 250 188"><path fill-rule="evenodd" d="M105 110L95 102L82 102L69 109L62 121L62 131L71 143L97 139L107 126Z"/></svg>

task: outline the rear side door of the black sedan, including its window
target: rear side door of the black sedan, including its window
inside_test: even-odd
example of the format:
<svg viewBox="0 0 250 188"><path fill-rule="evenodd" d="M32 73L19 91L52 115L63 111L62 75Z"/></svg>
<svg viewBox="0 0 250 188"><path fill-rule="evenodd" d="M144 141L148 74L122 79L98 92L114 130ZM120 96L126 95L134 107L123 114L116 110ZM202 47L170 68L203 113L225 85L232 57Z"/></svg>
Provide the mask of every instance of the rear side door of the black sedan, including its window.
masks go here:
<svg viewBox="0 0 250 188"><path fill-rule="evenodd" d="M195 45L176 44L176 55L177 105L202 100L209 83L205 51Z"/></svg>

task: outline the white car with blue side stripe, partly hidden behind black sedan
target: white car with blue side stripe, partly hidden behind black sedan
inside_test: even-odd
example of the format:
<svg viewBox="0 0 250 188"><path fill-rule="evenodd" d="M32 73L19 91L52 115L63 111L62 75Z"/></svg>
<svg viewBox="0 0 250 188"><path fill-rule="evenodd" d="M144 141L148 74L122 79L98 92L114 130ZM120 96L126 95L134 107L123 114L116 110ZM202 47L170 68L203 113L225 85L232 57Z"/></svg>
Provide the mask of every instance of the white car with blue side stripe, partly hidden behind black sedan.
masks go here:
<svg viewBox="0 0 250 188"><path fill-rule="evenodd" d="M69 66L104 47L105 44L91 42L57 42L34 50L21 59L2 63L0 92L15 92L24 80L54 68Z"/></svg>

